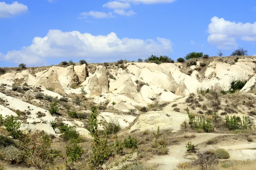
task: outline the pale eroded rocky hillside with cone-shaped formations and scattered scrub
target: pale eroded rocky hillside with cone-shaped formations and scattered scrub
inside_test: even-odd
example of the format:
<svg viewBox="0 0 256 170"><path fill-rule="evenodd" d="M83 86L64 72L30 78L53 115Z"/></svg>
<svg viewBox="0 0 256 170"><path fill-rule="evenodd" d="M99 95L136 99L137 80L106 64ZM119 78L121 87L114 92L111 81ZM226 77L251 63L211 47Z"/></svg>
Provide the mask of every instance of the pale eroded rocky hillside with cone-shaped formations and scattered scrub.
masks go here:
<svg viewBox="0 0 256 170"><path fill-rule="evenodd" d="M244 85L230 93L232 82L244 82ZM88 118L91 106L96 105L98 120L109 123L117 119L122 127L120 136L144 134L160 127L166 133L170 130L166 139L172 145L171 137L175 133L180 136L196 133L193 128L185 128L189 125L184 125L189 121L188 108L195 116L201 115L213 122L218 116L220 120L213 123L215 129L211 132L215 135L200 133L200 140L194 140L201 146L213 137L230 133L223 122L226 115L248 116L255 122L255 93L256 57L209 57L159 65L116 62L0 68L0 114L3 118L17 116L21 130L44 130L56 137L61 135L61 130L52 128L51 122L55 120L75 126L81 136L90 139ZM56 114L49 111L54 103L59 108ZM73 116L72 111L76 112ZM240 143L242 138L239 136ZM146 140L140 135L137 139ZM231 137L227 139L231 140ZM179 142L177 148L185 147L187 141L182 138ZM173 151L165 157L151 159L150 155L154 154L144 148L150 147L150 142L147 143L141 147L145 152L144 159L149 164L160 163L157 169L175 168L179 163L191 160L185 156L178 161L167 161L175 158L170 156L171 152L178 155ZM224 148L224 142L220 142L219 147ZM180 152L185 154L186 150L183 148ZM256 150L243 154L251 158L254 153ZM239 152L234 151L231 157L236 159L237 155Z"/></svg>

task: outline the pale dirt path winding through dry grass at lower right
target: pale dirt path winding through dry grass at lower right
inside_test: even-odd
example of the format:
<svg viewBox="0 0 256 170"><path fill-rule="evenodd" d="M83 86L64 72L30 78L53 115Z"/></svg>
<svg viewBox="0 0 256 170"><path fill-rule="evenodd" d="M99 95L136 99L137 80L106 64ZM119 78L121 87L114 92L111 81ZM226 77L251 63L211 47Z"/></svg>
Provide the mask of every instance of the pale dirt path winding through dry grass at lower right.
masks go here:
<svg viewBox="0 0 256 170"><path fill-rule="evenodd" d="M227 134L217 134L217 133L191 133L195 134L196 137L193 139L188 139L186 142L181 142L177 145L172 145L169 148L168 155L165 156L154 156L152 159L148 160L148 164L160 164L157 170L172 170L181 162L191 161L190 159L185 159L186 154L186 144L187 142L192 142L192 144L200 144L206 142L209 139L213 139L217 136L224 136Z"/></svg>

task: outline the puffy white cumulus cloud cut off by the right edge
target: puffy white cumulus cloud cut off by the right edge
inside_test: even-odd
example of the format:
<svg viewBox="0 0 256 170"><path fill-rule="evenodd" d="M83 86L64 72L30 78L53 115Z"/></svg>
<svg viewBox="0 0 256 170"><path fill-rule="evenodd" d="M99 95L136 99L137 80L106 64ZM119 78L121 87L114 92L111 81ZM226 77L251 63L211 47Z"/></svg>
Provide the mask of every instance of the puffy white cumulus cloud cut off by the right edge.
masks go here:
<svg viewBox="0 0 256 170"><path fill-rule="evenodd" d="M236 23L224 18L212 17L208 26L207 41L219 49L236 48L236 39L243 41L256 41L255 23Z"/></svg>

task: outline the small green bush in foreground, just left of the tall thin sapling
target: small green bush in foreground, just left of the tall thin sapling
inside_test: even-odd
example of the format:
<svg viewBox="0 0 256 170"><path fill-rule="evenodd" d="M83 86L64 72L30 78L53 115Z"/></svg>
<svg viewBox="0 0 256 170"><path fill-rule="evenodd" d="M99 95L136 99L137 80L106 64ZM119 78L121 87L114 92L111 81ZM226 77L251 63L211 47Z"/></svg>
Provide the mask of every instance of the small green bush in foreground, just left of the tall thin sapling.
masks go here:
<svg viewBox="0 0 256 170"><path fill-rule="evenodd" d="M81 158L83 153L82 148L78 145L79 141L72 139L69 144L66 145L66 155L68 156L68 160L78 161Z"/></svg>

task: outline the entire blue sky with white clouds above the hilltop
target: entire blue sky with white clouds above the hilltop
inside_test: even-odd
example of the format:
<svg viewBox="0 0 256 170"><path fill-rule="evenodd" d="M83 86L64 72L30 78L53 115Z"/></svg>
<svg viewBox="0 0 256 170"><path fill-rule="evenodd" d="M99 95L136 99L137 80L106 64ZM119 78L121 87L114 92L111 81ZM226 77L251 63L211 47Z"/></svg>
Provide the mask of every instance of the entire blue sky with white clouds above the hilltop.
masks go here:
<svg viewBox="0 0 256 170"><path fill-rule="evenodd" d="M0 0L0 67L256 54L253 0Z"/></svg>

